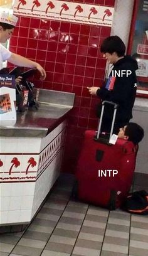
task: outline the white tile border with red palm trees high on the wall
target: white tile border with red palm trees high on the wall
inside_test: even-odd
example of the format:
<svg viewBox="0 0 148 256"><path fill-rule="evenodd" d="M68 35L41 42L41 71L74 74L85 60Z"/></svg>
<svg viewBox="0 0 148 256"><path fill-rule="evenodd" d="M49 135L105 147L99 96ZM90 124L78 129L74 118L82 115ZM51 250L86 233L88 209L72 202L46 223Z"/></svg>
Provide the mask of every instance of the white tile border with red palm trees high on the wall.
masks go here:
<svg viewBox="0 0 148 256"><path fill-rule="evenodd" d="M38 4L26 1L26 4L23 5L19 0L16 0L13 8L14 14L32 18L112 26L114 16L114 8L112 7L56 0L39 0L36 3Z"/></svg>

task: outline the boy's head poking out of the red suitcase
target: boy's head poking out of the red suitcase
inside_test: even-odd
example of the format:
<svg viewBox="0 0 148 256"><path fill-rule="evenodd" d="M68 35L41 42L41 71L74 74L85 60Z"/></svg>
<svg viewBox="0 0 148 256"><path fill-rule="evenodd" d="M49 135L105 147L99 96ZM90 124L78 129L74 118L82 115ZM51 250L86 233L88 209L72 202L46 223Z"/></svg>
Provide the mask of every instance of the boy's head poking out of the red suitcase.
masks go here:
<svg viewBox="0 0 148 256"><path fill-rule="evenodd" d="M135 145L138 144L144 137L144 129L140 125L129 122L129 124L120 128L119 139L125 139L127 141L132 141Z"/></svg>

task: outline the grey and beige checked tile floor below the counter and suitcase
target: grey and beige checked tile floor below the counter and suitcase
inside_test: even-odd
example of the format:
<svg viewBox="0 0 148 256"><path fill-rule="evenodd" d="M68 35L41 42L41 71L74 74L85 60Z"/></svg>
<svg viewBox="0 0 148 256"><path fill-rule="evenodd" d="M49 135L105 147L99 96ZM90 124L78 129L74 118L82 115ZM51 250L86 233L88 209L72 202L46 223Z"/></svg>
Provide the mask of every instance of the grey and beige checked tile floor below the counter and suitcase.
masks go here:
<svg viewBox="0 0 148 256"><path fill-rule="evenodd" d="M0 235L0 256L148 255L148 216L72 201L72 184L62 175L25 232Z"/></svg>

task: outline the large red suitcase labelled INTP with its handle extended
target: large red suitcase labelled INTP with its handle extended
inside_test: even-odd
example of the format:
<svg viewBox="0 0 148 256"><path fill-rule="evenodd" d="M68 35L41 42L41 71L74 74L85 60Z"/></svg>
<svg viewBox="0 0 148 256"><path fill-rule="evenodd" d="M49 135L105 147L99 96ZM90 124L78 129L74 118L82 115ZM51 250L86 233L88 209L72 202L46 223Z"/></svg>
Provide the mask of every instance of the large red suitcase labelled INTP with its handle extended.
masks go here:
<svg viewBox="0 0 148 256"><path fill-rule="evenodd" d="M76 172L77 196L80 200L115 210L129 193L137 148L132 142L124 139L117 139L115 145L99 139L105 103L110 104L102 104L97 135L95 131L85 132ZM114 128L117 104L114 104L114 107L110 137Z"/></svg>

